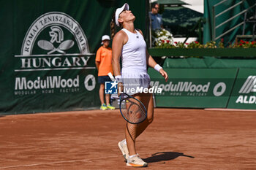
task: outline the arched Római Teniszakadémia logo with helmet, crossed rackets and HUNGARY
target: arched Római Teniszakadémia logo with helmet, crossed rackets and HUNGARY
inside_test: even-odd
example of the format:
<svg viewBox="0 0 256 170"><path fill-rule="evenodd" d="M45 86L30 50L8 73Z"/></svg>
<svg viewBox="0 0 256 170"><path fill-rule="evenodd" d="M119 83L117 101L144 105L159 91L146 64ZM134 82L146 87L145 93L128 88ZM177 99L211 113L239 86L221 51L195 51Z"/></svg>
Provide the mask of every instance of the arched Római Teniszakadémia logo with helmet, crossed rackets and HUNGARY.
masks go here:
<svg viewBox="0 0 256 170"><path fill-rule="evenodd" d="M79 23L63 12L41 15L23 39L15 72L95 69L86 35Z"/></svg>

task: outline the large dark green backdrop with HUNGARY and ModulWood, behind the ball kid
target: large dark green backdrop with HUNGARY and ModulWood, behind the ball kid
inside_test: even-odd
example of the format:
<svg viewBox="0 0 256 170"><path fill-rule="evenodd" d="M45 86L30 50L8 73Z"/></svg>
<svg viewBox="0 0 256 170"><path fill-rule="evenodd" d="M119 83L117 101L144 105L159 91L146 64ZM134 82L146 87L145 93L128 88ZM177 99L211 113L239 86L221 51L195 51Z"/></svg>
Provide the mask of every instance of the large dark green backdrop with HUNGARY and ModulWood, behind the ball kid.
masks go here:
<svg viewBox="0 0 256 170"><path fill-rule="evenodd" d="M0 115L99 108L95 53L124 2L145 32L146 1L2 2Z"/></svg>

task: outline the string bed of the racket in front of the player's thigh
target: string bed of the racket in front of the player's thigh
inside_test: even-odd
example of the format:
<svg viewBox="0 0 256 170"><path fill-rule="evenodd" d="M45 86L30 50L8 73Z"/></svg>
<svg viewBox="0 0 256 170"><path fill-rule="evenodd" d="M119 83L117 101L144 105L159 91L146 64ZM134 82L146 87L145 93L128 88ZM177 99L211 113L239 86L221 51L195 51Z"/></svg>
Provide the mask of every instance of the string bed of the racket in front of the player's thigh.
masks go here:
<svg viewBox="0 0 256 170"><path fill-rule="evenodd" d="M146 118L146 110L134 98L126 98L126 108L122 109L122 113L126 120L130 123L140 123Z"/></svg>

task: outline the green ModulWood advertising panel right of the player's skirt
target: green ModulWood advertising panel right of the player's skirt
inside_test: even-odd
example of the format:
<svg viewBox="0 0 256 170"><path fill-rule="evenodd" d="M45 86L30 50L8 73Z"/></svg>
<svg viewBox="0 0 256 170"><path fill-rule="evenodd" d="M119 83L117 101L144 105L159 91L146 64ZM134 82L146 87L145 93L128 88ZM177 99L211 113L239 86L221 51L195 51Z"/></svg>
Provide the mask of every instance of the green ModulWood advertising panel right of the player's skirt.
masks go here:
<svg viewBox="0 0 256 170"><path fill-rule="evenodd" d="M165 69L169 80L149 69L157 107L225 108L237 69Z"/></svg>

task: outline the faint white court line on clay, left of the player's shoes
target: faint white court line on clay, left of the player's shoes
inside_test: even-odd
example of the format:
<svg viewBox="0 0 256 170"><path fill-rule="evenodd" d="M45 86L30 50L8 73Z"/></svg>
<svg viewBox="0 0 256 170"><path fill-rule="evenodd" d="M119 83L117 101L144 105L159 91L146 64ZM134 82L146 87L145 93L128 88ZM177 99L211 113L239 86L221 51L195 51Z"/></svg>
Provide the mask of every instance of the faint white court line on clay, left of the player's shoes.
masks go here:
<svg viewBox="0 0 256 170"><path fill-rule="evenodd" d="M49 162L49 163L34 163L29 165L18 165L18 166L4 166L0 167L0 169L12 169L12 168L18 168L18 167L29 167L29 166L42 166L42 165L50 165L50 164L56 164L56 163L72 163L72 162L92 162L92 160L95 159L105 159L105 158L117 158L119 155L116 156L109 156L109 157L102 157L102 158L91 158L91 159L78 159L78 160L70 160L70 161L57 161L57 162Z"/></svg>

